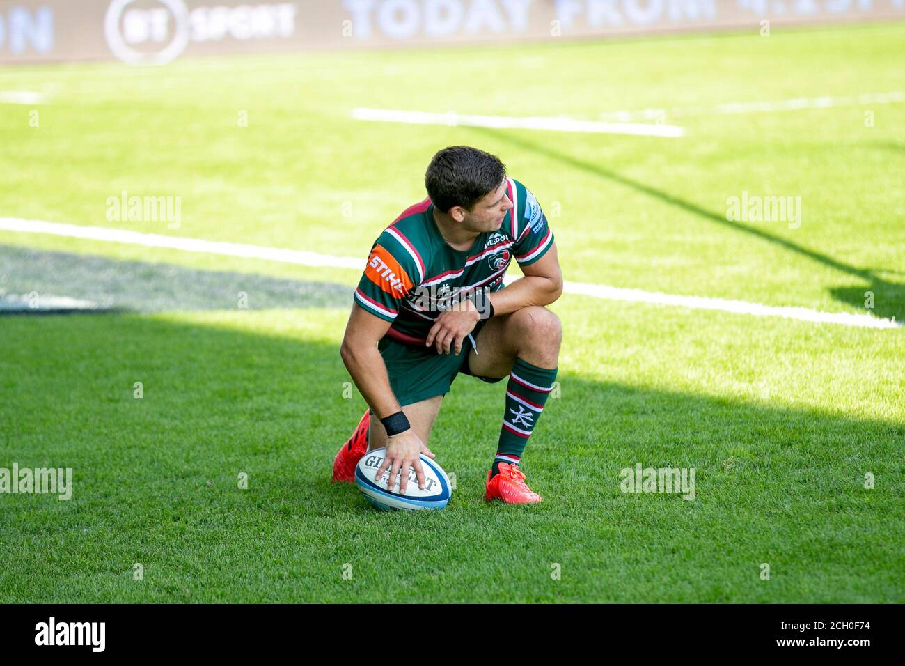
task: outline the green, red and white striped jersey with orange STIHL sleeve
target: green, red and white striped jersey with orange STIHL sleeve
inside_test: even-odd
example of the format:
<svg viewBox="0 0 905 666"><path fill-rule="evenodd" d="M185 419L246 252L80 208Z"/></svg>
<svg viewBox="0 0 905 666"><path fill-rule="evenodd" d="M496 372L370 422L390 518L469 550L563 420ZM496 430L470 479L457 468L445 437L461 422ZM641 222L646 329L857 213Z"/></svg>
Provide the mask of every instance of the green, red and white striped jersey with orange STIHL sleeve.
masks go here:
<svg viewBox="0 0 905 666"><path fill-rule="evenodd" d="M370 314L392 322L387 335L423 344L434 317L458 300L456 294L495 292L513 256L529 265L547 254L553 232L538 199L518 180L507 181L510 214L468 250L443 240L430 198L406 208L377 237L354 297Z"/></svg>

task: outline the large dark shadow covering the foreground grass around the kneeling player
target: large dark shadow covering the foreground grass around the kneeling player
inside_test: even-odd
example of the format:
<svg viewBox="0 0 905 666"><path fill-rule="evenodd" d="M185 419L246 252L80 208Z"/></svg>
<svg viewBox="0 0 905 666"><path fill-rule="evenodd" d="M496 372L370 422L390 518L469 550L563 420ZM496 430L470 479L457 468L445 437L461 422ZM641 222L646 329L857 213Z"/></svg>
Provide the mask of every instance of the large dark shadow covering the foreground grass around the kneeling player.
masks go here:
<svg viewBox="0 0 905 666"><path fill-rule="evenodd" d="M0 325L0 460L74 469L69 502L0 497L8 600L481 602L490 586L509 601L901 601L901 424L563 372L526 452L546 501L524 511L482 498L504 386L462 376L430 442L452 504L382 514L329 481L364 410L338 345L266 334L275 313L232 316L243 330ZM621 492L637 463L696 468L696 499ZM551 586L550 562L581 574Z"/></svg>

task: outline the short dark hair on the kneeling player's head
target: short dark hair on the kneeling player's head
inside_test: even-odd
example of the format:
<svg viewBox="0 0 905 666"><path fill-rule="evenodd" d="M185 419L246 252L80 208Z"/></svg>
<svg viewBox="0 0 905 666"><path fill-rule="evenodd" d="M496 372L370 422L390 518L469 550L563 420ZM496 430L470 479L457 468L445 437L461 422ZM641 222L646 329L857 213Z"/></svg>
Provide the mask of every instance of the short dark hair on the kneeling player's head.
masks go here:
<svg viewBox="0 0 905 666"><path fill-rule="evenodd" d="M506 178L506 165L496 155L469 146L439 150L427 166L424 187L433 205L446 213L453 206L471 210Z"/></svg>

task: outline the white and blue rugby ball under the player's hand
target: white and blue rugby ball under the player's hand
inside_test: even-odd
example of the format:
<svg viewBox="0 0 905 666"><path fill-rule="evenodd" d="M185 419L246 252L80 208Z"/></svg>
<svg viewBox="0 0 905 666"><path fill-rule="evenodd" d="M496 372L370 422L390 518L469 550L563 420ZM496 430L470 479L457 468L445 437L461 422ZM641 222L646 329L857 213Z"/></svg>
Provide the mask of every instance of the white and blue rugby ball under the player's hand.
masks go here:
<svg viewBox="0 0 905 666"><path fill-rule="evenodd" d="M384 464L386 449L368 451L358 460L355 468L355 485L365 494L367 501L380 509L401 508L414 510L418 508L443 508L452 497L450 479L439 465L424 454L421 455L421 468L424 469L424 490L418 487L418 478L414 469L409 469L408 486L405 495L399 494L402 474L397 474L392 491L386 489L390 479L387 468L381 478L376 478L377 468Z"/></svg>

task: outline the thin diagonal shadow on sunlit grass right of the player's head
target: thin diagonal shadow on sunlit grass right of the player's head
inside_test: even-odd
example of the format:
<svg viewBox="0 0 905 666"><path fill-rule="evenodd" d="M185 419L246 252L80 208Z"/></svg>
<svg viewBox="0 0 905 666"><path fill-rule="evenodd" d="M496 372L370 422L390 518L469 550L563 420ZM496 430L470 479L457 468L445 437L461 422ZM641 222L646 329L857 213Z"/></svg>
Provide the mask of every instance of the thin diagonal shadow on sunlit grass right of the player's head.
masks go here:
<svg viewBox="0 0 905 666"><path fill-rule="evenodd" d="M840 286L830 289L830 294L832 294L835 299L845 304L853 305L855 308L863 310L866 298L864 293L872 292L872 294L874 294L872 314L884 318L894 317L898 321L905 319L905 284L885 280L880 275L877 275L877 271L871 268L863 268L860 266L847 264L843 261L835 259L832 256L799 245L782 236L771 234L764 229L753 227L737 220L729 220L726 218L725 214L719 214L711 210L707 210L706 208L701 208L691 201L676 197L669 192L654 188L651 185L640 182L638 180L628 178L627 176L624 176L623 174L620 174L612 169L606 169L602 165L589 162L585 159L576 158L564 152L553 150L549 147L548 144L525 140L514 132L488 130L478 127L470 127L468 129L487 136L491 136L495 140L504 141L510 143L511 145L518 146L522 150L527 150L538 155L543 155L548 159L552 159L560 164L567 165L572 169L578 169L597 178L606 179L622 185L623 187L631 188L636 192L641 192L648 197L655 198L662 203L669 204L670 206L674 206L676 208L681 208L685 212L691 213L692 215L709 219L711 222L715 222L724 227L735 229L736 231L740 231L750 236L754 236L760 240L767 241L767 243L783 247L789 252L795 253L799 256L804 256L808 259L811 259L812 261L833 268L834 270L837 270L846 275L860 278L862 280L862 285ZM899 144L885 144L885 147L890 149L900 149Z"/></svg>

